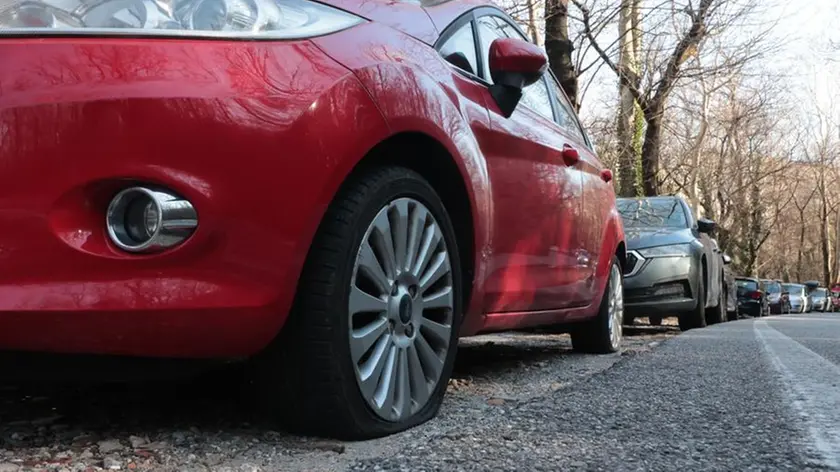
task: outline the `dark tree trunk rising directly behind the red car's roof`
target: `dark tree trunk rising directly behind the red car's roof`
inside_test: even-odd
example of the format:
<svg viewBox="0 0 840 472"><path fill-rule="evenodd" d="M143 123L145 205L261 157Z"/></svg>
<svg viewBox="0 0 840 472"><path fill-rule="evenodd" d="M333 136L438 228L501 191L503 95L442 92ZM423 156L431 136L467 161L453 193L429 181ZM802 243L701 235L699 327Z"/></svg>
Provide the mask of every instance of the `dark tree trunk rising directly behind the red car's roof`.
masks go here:
<svg viewBox="0 0 840 472"><path fill-rule="evenodd" d="M577 71L572 62L573 50L574 45L569 39L569 0L546 0L545 51L548 63L572 106L578 109L580 104L577 96Z"/></svg>

